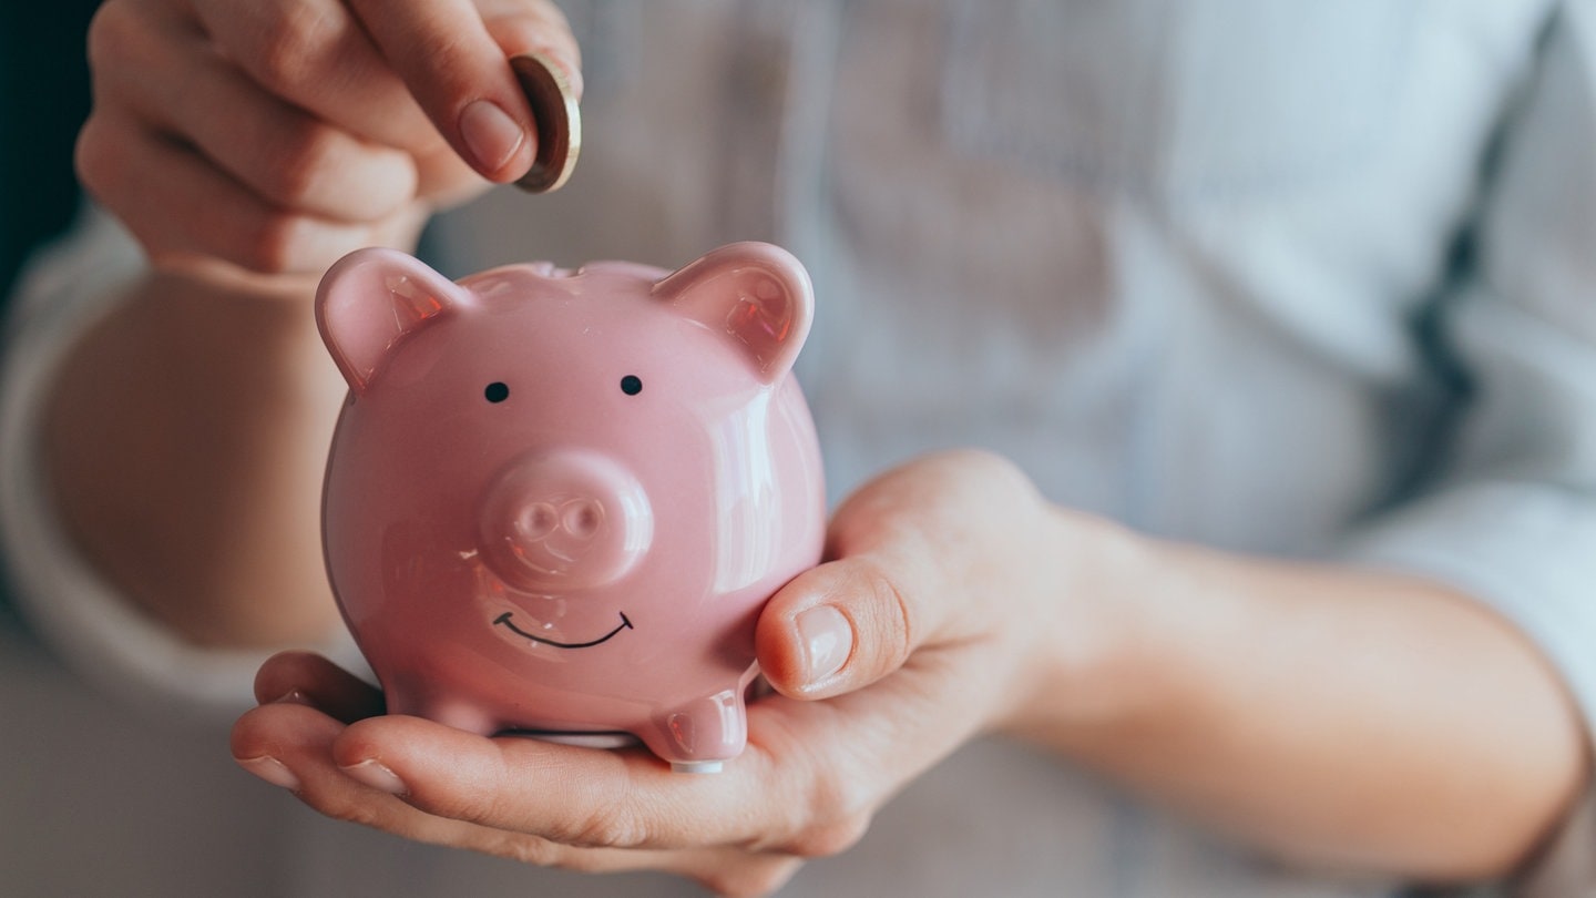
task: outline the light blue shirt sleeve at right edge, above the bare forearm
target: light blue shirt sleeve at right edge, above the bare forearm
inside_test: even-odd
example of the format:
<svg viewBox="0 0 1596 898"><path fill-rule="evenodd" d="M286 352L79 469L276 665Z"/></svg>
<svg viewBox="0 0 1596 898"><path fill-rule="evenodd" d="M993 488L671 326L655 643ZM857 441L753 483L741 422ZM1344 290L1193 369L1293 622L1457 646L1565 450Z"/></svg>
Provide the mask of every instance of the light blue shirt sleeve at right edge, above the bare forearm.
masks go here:
<svg viewBox="0 0 1596 898"><path fill-rule="evenodd" d="M1596 3L1553 16L1481 203L1467 283L1438 310L1462 382L1440 476L1350 553L1486 602L1596 724Z"/></svg>

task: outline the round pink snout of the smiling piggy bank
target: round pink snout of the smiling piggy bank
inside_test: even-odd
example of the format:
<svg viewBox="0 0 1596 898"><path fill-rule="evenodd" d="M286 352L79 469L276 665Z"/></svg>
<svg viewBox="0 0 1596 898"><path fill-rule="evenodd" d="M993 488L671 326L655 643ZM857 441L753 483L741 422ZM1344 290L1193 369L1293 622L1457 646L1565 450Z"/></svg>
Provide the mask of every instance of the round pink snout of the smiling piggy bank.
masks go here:
<svg viewBox="0 0 1596 898"><path fill-rule="evenodd" d="M621 578L648 551L648 494L598 454L520 459L488 486L482 543L493 572L522 590L570 591Z"/></svg>

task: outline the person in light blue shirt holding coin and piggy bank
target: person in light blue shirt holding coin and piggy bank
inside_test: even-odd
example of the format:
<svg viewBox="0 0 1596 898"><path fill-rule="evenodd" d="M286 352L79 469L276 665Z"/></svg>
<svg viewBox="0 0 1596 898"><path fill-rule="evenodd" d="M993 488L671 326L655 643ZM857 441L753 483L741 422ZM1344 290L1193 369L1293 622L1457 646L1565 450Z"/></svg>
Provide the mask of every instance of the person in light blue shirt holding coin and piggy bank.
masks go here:
<svg viewBox="0 0 1596 898"><path fill-rule="evenodd" d="M1583 0L109 0L78 165L120 225L5 380L24 606L112 689L254 677L235 759L332 818L262 893L1574 895L1593 40ZM484 193L528 50L583 158ZM747 753L380 714L319 564L316 276L739 238L812 270L836 502Z"/></svg>

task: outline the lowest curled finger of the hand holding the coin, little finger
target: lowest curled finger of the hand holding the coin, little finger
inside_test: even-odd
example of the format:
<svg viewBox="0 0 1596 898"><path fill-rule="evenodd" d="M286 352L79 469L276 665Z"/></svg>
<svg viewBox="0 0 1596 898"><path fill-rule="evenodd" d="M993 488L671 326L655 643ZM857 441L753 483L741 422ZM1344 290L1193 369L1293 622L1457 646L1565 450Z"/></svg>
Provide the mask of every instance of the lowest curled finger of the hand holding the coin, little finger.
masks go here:
<svg viewBox="0 0 1596 898"><path fill-rule="evenodd" d="M268 206L193 150L96 112L78 136L85 187L128 222L155 264L219 257L254 272L324 272L373 243L362 225Z"/></svg>

